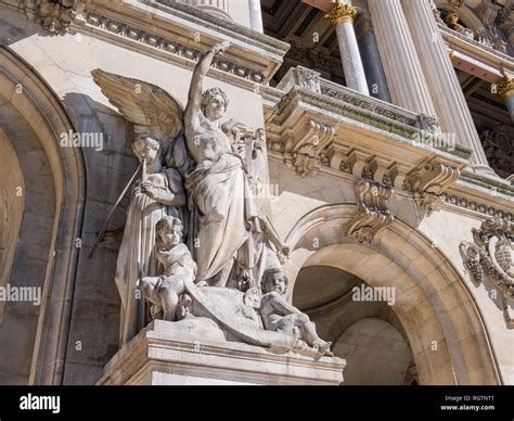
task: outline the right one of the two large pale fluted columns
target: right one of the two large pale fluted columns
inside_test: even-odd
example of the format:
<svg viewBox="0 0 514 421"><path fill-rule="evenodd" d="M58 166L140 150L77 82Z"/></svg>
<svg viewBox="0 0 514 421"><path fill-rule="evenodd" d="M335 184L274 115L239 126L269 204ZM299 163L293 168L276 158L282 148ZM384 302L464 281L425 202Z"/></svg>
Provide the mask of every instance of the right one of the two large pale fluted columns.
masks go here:
<svg viewBox="0 0 514 421"><path fill-rule="evenodd" d="M477 171L492 175L429 2L403 0L402 4L442 131L455 133L458 142L473 151L471 162Z"/></svg>

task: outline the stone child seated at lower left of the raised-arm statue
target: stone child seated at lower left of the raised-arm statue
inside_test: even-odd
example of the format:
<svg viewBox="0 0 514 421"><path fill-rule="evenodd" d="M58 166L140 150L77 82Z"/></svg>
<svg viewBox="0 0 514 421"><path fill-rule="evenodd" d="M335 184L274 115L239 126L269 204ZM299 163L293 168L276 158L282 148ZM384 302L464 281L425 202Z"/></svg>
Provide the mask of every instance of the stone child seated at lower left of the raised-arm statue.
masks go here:
<svg viewBox="0 0 514 421"><path fill-rule="evenodd" d="M138 281L138 288L152 304L154 319L176 321L181 316L178 311L184 301L185 282L194 282L196 278L196 264L182 242L183 226L180 219L165 216L155 229L156 257L163 266L163 273L158 277L144 277Z"/></svg>

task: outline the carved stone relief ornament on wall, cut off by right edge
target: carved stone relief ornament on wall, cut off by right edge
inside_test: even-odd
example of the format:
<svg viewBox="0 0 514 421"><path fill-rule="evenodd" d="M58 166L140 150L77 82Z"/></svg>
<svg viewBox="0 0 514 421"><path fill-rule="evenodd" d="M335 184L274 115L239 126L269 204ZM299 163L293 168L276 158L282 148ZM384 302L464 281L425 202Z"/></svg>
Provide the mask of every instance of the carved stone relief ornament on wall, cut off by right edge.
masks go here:
<svg viewBox="0 0 514 421"><path fill-rule="evenodd" d="M472 232L474 242L460 245L464 268L477 285L489 280L502 293L505 319L514 326L514 224L489 218Z"/></svg>

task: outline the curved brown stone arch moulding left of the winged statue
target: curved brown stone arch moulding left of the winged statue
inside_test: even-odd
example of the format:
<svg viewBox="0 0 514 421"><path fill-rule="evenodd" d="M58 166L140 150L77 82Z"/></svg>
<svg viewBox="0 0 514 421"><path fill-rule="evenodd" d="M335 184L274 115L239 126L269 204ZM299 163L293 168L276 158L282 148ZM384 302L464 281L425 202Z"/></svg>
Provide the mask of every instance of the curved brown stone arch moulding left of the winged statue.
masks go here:
<svg viewBox="0 0 514 421"><path fill-rule="evenodd" d="M31 315L36 321L27 320L24 331L25 346L33 346L30 357L18 361L23 372L15 381L61 384L86 199L82 152L60 146L60 135L75 131L69 116L46 80L5 46L0 46L0 125L17 154L25 184L12 277L42 289L42 302ZM25 270L36 254L37 270ZM15 333L7 324L2 330L3 335Z"/></svg>

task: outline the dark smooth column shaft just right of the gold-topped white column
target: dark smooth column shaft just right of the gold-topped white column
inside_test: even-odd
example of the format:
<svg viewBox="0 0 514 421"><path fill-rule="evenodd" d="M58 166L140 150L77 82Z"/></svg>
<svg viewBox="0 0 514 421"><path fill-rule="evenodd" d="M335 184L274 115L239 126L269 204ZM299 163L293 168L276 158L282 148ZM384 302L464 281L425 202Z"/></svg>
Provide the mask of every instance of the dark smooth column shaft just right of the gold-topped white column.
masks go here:
<svg viewBox="0 0 514 421"><path fill-rule="evenodd" d="M356 34L370 95L386 102L393 102L370 12L367 9L362 10L361 18L356 25Z"/></svg>

